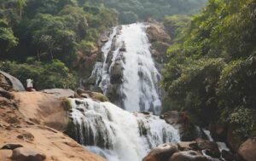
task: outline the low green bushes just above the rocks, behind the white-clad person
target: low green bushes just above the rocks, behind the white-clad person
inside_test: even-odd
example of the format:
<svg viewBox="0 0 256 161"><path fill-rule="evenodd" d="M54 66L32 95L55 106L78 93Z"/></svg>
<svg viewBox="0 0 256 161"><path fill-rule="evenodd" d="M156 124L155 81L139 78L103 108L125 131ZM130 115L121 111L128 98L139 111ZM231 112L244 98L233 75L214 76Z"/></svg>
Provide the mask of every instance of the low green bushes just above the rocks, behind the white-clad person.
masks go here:
<svg viewBox="0 0 256 161"><path fill-rule="evenodd" d="M51 63L17 64L3 61L0 70L8 72L26 86L26 79L32 78L35 89L69 88L74 89L78 82L76 76L71 73L61 61L54 60Z"/></svg>

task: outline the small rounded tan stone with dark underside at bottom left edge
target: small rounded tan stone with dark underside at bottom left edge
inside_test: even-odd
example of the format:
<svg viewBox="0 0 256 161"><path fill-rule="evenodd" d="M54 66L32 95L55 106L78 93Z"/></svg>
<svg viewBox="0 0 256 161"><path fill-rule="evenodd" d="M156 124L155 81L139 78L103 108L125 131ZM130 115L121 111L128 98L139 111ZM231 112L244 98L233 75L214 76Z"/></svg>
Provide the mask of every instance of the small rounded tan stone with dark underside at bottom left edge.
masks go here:
<svg viewBox="0 0 256 161"><path fill-rule="evenodd" d="M11 158L15 161L43 161L46 156L38 150L20 147L13 151Z"/></svg>

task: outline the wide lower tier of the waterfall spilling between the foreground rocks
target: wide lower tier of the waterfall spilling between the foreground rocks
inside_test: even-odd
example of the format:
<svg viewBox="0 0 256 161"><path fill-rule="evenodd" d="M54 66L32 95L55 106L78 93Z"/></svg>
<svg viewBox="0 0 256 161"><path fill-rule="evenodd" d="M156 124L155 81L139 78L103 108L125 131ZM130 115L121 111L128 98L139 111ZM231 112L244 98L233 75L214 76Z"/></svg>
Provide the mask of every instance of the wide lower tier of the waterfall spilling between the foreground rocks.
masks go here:
<svg viewBox="0 0 256 161"><path fill-rule="evenodd" d="M131 113L110 102L70 99L73 138L109 161L140 161L150 149L179 141L177 129L150 113Z"/></svg>

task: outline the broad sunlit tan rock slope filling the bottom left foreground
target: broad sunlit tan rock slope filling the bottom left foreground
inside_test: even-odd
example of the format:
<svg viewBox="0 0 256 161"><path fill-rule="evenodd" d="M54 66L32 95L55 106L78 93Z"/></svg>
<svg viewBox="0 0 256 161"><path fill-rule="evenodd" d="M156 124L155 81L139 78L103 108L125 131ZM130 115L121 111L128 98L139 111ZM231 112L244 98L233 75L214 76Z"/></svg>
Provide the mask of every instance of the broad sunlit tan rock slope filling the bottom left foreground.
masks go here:
<svg viewBox="0 0 256 161"><path fill-rule="evenodd" d="M103 158L84 150L84 147L67 135L44 126L49 120L61 116L56 112L61 109L60 106L49 106L50 101L55 101L48 100L51 99L49 94L12 94L15 95L15 100L0 96L1 161L104 161ZM17 105L16 101L20 103ZM51 112L55 116L47 117ZM44 124L31 121L36 117L42 118Z"/></svg>

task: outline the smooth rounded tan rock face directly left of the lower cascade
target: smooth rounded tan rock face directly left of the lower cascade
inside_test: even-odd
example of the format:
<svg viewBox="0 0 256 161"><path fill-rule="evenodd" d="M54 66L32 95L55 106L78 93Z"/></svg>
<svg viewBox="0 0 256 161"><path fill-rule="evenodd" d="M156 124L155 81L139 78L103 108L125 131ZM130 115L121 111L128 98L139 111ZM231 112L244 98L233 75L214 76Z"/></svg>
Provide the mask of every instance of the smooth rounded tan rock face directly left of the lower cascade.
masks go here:
<svg viewBox="0 0 256 161"><path fill-rule="evenodd" d="M43 92L13 93L19 111L35 124L64 131L68 124L68 105L60 95Z"/></svg>

